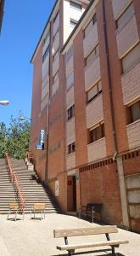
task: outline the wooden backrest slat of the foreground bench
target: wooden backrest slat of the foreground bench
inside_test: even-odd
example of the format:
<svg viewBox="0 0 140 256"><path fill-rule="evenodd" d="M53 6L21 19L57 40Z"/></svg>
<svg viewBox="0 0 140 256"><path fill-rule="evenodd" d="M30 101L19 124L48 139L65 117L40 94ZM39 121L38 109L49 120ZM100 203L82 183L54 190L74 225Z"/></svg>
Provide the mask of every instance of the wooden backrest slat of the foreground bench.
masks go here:
<svg viewBox="0 0 140 256"><path fill-rule="evenodd" d="M90 235L100 235L106 233L117 233L116 226L103 226L96 228L77 228L77 229L68 229L68 230L53 230L55 238L59 237L70 237L70 236L90 236Z"/></svg>

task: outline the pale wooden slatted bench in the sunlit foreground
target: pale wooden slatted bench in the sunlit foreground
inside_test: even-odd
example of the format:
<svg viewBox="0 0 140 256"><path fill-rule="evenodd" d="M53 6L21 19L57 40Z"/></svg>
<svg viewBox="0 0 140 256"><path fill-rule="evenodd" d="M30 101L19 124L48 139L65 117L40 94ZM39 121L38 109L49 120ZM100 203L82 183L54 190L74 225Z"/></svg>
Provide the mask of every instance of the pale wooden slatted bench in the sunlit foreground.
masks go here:
<svg viewBox="0 0 140 256"><path fill-rule="evenodd" d="M123 240L112 240L109 237L109 233L117 233L118 229L116 226L102 226L94 228L77 228L68 230L53 230L54 238L64 237L64 245L57 246L58 250L68 251L68 255L72 255L76 249L90 248L90 247L111 247L112 255L115 256L115 247L119 247L120 244L126 244L129 241ZM105 235L107 240L104 241L93 241L79 244L68 244L68 237L70 236L91 236L91 235Z"/></svg>

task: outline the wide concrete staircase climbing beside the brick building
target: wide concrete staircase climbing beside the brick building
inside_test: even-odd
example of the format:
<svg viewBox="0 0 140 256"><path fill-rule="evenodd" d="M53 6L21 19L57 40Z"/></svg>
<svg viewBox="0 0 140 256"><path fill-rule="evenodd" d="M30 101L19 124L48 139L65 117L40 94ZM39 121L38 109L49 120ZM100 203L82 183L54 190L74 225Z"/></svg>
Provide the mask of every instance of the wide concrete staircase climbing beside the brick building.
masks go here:
<svg viewBox="0 0 140 256"><path fill-rule="evenodd" d="M31 212L33 204L36 202L46 203L46 212L48 213L60 212L59 205L48 187L38 183L36 172L27 170L23 160L11 160L11 162L14 172L18 174L25 195L25 213ZM9 181L5 160L0 160L0 213L8 213L8 202L15 200L14 187Z"/></svg>

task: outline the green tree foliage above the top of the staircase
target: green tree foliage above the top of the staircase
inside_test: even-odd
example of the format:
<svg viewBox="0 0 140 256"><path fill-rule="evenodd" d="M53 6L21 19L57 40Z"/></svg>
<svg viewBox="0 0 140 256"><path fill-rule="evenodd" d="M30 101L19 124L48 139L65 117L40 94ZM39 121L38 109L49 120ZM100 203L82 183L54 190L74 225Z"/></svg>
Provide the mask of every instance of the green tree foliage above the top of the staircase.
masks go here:
<svg viewBox="0 0 140 256"><path fill-rule="evenodd" d="M21 121L11 116L9 128L0 123L0 158L7 151L10 157L25 159L25 152L29 148L30 122Z"/></svg>

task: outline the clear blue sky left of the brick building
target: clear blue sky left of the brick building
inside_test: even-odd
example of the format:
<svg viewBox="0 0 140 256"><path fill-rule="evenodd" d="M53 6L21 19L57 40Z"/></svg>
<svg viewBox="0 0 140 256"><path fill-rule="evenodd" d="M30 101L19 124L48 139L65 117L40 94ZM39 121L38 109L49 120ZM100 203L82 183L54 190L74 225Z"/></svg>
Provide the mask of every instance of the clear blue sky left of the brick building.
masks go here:
<svg viewBox="0 0 140 256"><path fill-rule="evenodd" d="M7 126L20 111L31 117L31 56L48 20L55 0L5 0L0 35L0 122Z"/></svg>

